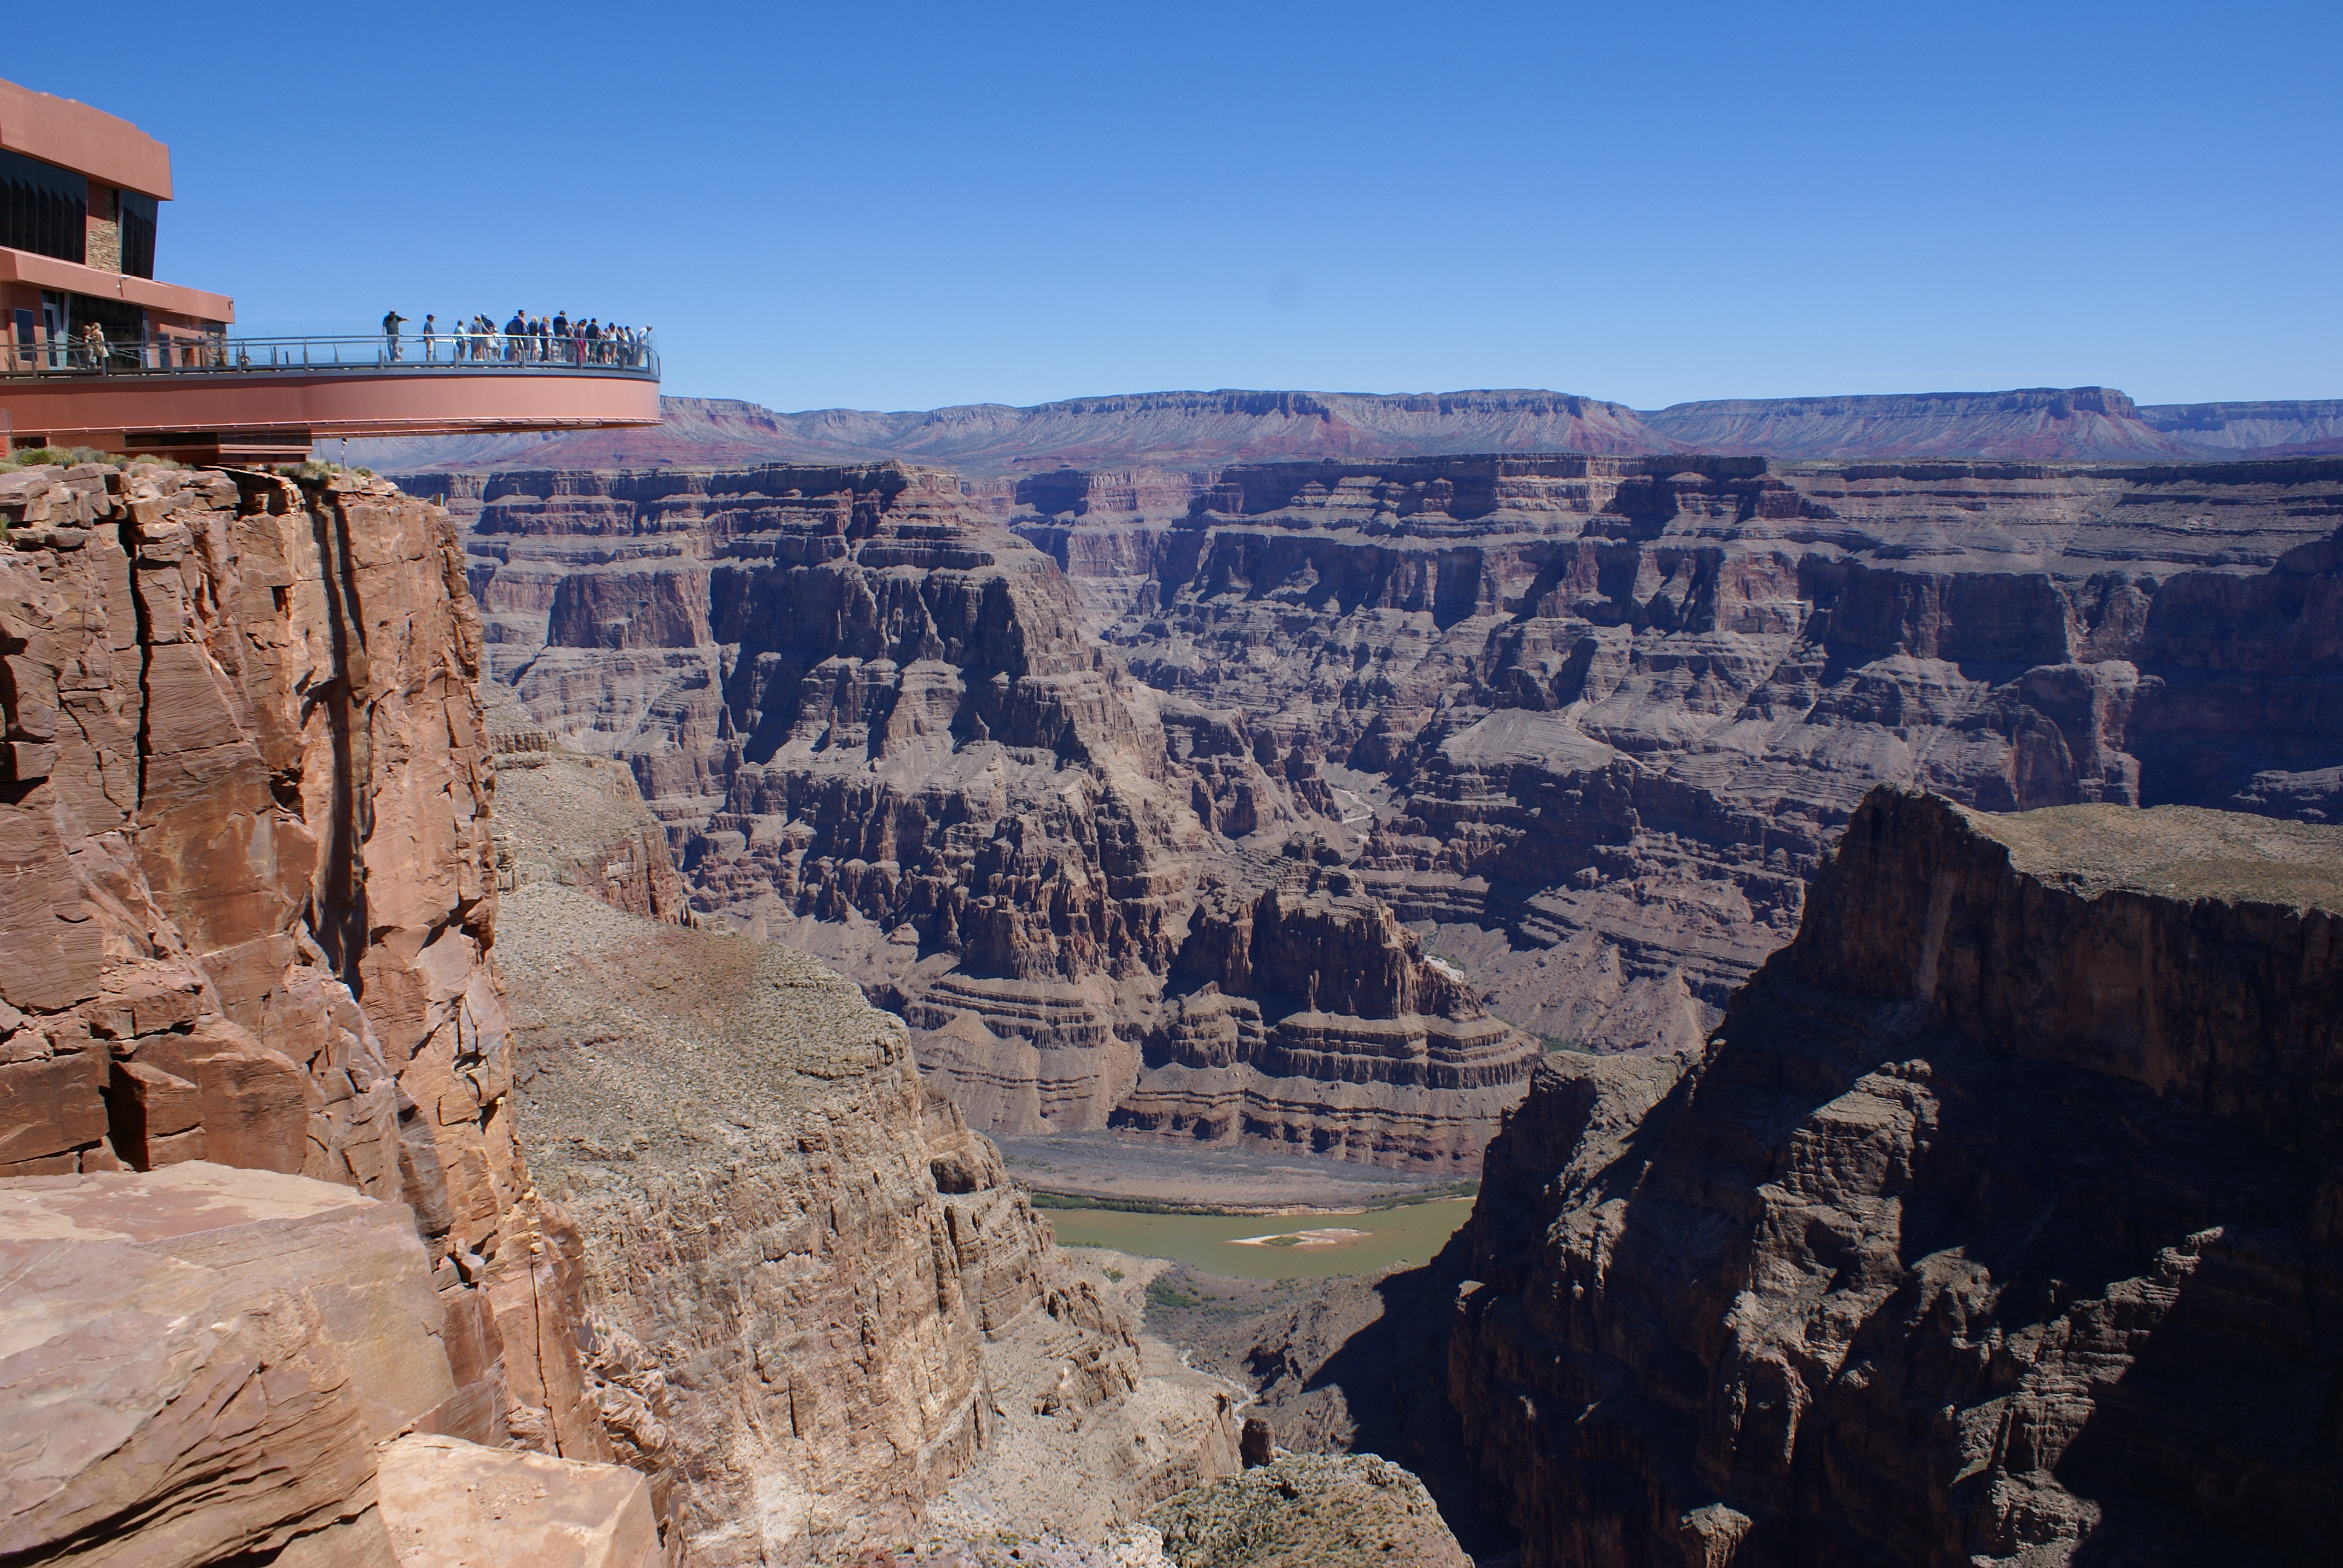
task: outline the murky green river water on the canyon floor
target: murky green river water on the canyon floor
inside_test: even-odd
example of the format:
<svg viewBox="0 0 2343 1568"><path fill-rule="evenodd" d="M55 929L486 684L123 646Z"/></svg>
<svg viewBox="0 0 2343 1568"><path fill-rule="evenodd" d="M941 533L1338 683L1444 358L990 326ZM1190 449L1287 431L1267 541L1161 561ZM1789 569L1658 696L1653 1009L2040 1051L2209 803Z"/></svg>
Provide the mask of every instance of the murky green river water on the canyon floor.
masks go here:
<svg viewBox="0 0 2343 1568"><path fill-rule="evenodd" d="M1176 1259L1214 1275L1246 1280L1326 1280L1389 1263L1429 1263L1471 1219L1471 1198L1415 1202L1373 1214L1125 1214L1120 1209L1045 1209L1061 1247L1113 1247L1146 1259ZM1237 1238L1300 1230L1364 1230L1328 1247L1242 1247Z"/></svg>

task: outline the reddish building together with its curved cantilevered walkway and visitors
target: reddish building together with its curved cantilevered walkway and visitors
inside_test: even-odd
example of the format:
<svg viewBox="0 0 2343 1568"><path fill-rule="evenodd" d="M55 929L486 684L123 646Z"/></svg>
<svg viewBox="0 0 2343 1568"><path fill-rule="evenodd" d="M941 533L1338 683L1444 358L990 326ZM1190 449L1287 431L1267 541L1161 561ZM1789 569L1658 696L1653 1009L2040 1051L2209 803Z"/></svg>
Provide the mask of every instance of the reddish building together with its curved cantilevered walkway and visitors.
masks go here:
<svg viewBox="0 0 2343 1568"><path fill-rule="evenodd" d="M155 279L166 202L159 141L0 82L0 452L281 462L344 436L658 424L640 338L237 338L230 295Z"/></svg>

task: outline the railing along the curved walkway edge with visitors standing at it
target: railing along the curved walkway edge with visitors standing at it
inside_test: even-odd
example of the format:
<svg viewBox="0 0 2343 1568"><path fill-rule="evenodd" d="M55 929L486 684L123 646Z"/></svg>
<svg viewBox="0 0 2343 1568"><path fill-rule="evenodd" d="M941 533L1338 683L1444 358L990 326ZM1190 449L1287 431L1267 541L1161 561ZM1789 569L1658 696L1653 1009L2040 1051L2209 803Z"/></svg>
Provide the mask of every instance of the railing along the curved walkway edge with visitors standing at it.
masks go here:
<svg viewBox="0 0 2343 1568"><path fill-rule="evenodd" d="M141 338L96 342L68 338L0 345L0 375L267 375L302 370L412 370L417 375L497 375L588 370L658 380L649 340L600 342L506 333L401 333L384 338Z"/></svg>

